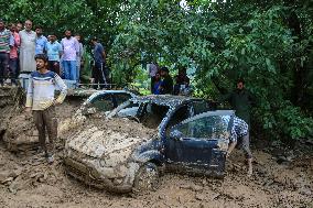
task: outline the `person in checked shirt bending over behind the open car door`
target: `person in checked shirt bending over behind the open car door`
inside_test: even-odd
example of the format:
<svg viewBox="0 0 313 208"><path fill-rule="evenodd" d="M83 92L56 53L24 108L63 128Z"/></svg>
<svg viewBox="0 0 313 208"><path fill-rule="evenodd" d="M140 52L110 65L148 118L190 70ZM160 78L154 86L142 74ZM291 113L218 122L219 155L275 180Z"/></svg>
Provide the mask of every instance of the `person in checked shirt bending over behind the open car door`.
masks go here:
<svg viewBox="0 0 313 208"><path fill-rule="evenodd" d="M233 127L230 130L230 144L228 146L227 156L235 146L242 149L248 161L248 176L252 175L252 153L249 147L249 127L248 124L234 116Z"/></svg>

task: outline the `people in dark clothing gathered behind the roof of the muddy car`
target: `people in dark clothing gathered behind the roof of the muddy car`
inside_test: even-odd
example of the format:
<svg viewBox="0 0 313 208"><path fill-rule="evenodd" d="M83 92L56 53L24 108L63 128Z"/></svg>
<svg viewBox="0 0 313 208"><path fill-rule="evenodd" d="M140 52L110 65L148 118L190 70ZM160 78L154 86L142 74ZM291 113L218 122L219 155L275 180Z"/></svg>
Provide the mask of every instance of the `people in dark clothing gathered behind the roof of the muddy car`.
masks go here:
<svg viewBox="0 0 313 208"><path fill-rule="evenodd" d="M179 69L175 84L169 68L165 66L159 67L156 63L149 65L149 76L151 79L151 94L153 95L188 95L190 92L190 78L184 67Z"/></svg>

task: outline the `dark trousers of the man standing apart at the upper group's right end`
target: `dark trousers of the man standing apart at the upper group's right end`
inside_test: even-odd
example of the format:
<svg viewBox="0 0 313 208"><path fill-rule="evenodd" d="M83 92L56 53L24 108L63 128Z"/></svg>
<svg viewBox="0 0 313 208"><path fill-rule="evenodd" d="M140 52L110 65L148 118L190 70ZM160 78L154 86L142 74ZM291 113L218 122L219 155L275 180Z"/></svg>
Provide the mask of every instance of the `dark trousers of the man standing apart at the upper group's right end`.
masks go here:
<svg viewBox="0 0 313 208"><path fill-rule="evenodd" d="M95 64L93 78L95 79L95 84L100 84L100 89L102 89L106 84L109 84L109 72L105 63ZM97 85L95 85L94 88L97 88Z"/></svg>

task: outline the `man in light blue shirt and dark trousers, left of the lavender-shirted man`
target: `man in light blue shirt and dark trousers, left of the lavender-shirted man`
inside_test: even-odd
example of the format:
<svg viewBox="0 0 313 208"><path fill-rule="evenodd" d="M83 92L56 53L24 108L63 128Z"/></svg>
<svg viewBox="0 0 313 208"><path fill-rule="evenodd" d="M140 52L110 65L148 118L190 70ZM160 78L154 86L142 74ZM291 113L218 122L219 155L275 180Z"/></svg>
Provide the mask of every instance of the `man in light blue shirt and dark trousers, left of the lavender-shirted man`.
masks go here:
<svg viewBox="0 0 313 208"><path fill-rule="evenodd" d="M48 69L56 73L58 76L60 73L60 57L62 56L62 45L56 41L56 35L50 35L50 42L45 45L45 52L48 58Z"/></svg>

